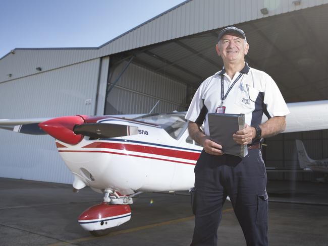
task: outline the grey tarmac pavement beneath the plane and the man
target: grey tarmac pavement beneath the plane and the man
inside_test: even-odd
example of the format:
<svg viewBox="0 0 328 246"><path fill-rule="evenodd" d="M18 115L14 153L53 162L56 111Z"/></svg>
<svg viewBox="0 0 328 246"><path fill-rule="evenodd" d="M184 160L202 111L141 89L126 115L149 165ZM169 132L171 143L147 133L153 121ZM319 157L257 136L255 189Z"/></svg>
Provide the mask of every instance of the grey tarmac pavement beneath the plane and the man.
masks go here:
<svg viewBox="0 0 328 246"><path fill-rule="evenodd" d="M328 245L328 184L270 181L269 245ZM180 195L179 195L180 194ZM89 188L0 178L0 245L189 245L194 218L190 197L143 193L131 220L94 237L77 217L100 203L102 194ZM224 206L218 245L246 245L230 202Z"/></svg>

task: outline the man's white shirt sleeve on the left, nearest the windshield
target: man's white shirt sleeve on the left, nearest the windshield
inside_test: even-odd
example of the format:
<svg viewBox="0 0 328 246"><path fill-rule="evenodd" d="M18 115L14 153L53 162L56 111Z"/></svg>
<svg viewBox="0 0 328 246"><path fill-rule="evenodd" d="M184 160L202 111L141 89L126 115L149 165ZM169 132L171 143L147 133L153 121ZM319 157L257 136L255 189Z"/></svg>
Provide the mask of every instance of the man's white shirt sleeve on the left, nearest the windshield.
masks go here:
<svg viewBox="0 0 328 246"><path fill-rule="evenodd" d="M204 100L202 95L203 84L204 83L202 83L198 87L194 97L192 98L187 114L185 116L187 120L196 122L198 125L202 125L207 113L207 108L204 105Z"/></svg>

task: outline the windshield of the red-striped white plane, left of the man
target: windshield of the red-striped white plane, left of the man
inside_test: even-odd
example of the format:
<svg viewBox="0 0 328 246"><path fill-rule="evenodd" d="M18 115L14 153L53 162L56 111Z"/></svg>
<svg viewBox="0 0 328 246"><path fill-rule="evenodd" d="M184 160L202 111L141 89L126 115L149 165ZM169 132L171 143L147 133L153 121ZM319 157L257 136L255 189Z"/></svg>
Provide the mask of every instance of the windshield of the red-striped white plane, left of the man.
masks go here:
<svg viewBox="0 0 328 246"><path fill-rule="evenodd" d="M156 124L164 129L172 138L179 139L186 129L186 113L153 113L134 118L135 120Z"/></svg>

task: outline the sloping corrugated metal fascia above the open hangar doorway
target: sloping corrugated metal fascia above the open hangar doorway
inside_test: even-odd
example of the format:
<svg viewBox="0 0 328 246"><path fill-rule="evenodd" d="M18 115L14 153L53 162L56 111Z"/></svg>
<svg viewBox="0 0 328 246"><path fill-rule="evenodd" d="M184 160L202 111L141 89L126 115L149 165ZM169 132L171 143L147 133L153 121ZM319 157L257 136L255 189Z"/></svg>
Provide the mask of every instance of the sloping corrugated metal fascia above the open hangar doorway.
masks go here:
<svg viewBox="0 0 328 246"><path fill-rule="evenodd" d="M184 37L229 25L301 10L328 0L191 0L182 3L131 31L104 44L104 53L114 54L166 40ZM260 10L268 9L267 15Z"/></svg>

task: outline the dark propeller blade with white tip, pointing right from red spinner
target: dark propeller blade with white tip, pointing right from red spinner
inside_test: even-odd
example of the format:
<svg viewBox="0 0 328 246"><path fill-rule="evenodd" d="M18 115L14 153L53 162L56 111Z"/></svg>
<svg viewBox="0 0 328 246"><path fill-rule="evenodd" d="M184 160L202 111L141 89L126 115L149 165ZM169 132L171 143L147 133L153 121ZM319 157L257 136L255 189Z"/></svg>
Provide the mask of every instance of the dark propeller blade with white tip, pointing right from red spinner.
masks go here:
<svg viewBox="0 0 328 246"><path fill-rule="evenodd" d="M116 138L138 134L138 127L105 124L88 123L74 127L75 134L82 134L92 138Z"/></svg>

